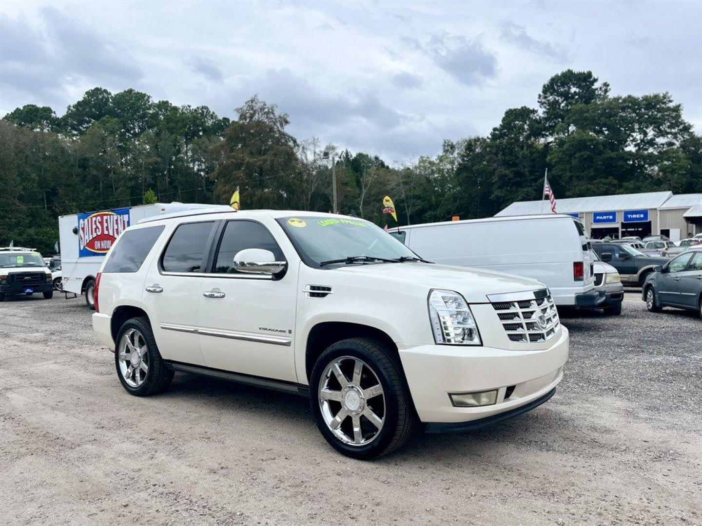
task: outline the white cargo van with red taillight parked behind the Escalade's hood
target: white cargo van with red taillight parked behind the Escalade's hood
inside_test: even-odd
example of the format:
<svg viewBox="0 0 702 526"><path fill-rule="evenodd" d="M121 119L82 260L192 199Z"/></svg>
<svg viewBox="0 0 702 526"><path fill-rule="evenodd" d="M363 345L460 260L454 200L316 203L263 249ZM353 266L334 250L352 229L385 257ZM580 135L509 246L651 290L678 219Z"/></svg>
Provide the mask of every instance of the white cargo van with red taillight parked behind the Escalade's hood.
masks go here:
<svg viewBox="0 0 702 526"><path fill-rule="evenodd" d="M569 215L488 217L390 229L430 261L491 269L548 285L555 304L602 308L583 224Z"/></svg>

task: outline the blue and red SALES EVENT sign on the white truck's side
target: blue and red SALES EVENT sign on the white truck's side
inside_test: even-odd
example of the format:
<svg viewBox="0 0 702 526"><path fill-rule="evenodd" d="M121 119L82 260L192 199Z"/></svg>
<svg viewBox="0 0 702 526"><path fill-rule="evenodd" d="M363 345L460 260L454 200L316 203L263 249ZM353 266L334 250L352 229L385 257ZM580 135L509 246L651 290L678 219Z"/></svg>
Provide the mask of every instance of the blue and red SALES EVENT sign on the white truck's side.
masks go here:
<svg viewBox="0 0 702 526"><path fill-rule="evenodd" d="M129 209L78 215L78 257L107 254L129 226Z"/></svg>

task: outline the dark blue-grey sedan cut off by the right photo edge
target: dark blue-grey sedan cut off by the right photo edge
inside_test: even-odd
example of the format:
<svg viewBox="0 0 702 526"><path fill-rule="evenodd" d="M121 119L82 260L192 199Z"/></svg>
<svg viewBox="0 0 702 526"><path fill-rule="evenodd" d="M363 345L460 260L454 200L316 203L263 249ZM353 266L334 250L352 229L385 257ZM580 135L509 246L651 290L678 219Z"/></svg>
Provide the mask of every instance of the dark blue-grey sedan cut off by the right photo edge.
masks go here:
<svg viewBox="0 0 702 526"><path fill-rule="evenodd" d="M694 309L702 317L702 249L690 249L650 274L642 299L658 312L664 306Z"/></svg>

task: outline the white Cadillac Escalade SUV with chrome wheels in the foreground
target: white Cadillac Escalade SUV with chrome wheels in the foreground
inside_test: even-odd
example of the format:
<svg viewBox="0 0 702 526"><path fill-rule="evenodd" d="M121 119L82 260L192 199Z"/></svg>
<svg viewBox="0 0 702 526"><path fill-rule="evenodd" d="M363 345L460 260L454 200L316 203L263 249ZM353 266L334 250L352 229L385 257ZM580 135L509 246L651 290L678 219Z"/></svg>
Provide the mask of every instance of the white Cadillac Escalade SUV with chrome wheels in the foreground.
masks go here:
<svg viewBox="0 0 702 526"><path fill-rule="evenodd" d="M324 438L369 459L468 431L555 392L568 331L538 281L420 259L354 217L252 210L152 217L114 244L93 328L124 389L176 371L310 398Z"/></svg>

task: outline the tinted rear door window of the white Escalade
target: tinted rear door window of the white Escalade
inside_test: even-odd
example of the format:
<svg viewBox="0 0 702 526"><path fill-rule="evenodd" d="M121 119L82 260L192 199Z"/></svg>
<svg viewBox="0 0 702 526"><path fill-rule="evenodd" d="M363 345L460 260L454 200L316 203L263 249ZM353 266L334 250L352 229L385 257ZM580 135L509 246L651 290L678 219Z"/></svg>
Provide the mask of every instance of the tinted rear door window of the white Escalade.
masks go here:
<svg viewBox="0 0 702 526"><path fill-rule="evenodd" d="M201 272L205 245L214 222L183 223L168 241L161 260L166 272Z"/></svg>

